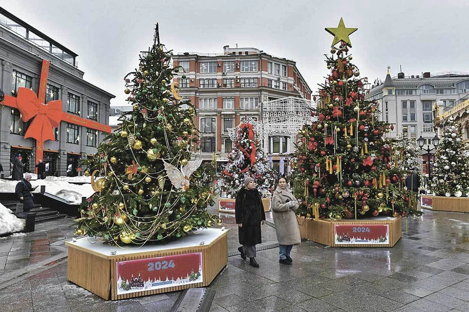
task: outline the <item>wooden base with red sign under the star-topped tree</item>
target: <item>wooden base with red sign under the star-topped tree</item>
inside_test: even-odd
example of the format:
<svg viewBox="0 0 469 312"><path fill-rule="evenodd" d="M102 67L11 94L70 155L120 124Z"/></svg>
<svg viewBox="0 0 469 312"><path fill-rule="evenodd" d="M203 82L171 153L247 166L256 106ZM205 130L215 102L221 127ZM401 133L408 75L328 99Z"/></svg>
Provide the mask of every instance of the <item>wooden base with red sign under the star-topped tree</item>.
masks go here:
<svg viewBox="0 0 469 312"><path fill-rule="evenodd" d="M401 217L315 220L298 217L301 238L331 247L392 247L401 238Z"/></svg>

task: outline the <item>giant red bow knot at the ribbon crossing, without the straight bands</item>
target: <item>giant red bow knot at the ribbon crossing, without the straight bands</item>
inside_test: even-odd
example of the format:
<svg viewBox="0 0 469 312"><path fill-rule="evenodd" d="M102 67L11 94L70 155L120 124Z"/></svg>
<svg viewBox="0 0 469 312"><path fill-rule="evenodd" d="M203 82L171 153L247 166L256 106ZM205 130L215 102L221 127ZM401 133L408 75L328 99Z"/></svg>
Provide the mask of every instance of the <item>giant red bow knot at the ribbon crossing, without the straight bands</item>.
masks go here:
<svg viewBox="0 0 469 312"><path fill-rule="evenodd" d="M24 138L32 137L42 143L55 139L54 128L59 127L62 119L62 100L50 101L46 105L32 90L19 88L16 103L23 121L34 117Z"/></svg>

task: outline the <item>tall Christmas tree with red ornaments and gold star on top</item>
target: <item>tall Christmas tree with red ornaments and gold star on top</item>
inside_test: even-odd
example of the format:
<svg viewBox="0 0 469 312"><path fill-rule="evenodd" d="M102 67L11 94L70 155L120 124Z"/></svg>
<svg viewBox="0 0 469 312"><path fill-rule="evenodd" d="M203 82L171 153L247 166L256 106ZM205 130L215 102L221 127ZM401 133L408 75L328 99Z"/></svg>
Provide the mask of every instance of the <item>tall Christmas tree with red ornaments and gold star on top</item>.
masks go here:
<svg viewBox="0 0 469 312"><path fill-rule="evenodd" d="M376 101L365 100L366 78L352 64L349 35L341 19L334 35L330 69L320 85L317 118L299 131L293 171L295 193L302 198L298 215L360 218L419 215L405 190L406 172L396 149L384 138L393 126L379 121Z"/></svg>

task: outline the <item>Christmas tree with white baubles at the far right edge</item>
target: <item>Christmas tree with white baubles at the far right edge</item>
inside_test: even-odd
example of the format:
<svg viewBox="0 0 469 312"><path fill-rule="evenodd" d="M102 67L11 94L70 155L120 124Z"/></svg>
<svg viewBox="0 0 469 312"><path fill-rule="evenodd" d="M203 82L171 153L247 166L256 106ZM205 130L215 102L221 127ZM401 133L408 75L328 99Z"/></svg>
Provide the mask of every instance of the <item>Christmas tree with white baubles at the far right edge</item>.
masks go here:
<svg viewBox="0 0 469 312"><path fill-rule="evenodd" d="M469 196L469 152L459 125L449 117L435 153L430 191L439 196Z"/></svg>

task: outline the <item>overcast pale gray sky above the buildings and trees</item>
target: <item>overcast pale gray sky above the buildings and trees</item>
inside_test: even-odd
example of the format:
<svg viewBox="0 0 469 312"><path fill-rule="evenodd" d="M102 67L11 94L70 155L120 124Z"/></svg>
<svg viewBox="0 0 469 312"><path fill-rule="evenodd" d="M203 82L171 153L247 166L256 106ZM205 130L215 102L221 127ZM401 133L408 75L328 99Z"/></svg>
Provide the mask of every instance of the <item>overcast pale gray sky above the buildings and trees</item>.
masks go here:
<svg viewBox="0 0 469 312"><path fill-rule="evenodd" d="M221 53L256 47L297 62L313 91L327 74L324 27L358 27L350 36L362 77L384 80L442 71L469 72L469 1L0 0L0 6L79 55L85 79L125 105L123 77L152 42L154 23L174 52Z"/></svg>

